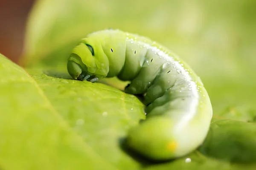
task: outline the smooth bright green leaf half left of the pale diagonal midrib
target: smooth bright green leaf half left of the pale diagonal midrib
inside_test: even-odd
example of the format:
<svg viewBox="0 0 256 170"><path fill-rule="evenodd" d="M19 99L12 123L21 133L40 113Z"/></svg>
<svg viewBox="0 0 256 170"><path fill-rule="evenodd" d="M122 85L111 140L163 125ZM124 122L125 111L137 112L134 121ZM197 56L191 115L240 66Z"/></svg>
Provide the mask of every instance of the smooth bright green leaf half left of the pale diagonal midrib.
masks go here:
<svg viewBox="0 0 256 170"><path fill-rule="evenodd" d="M0 168L109 169L22 68L0 55Z"/></svg>

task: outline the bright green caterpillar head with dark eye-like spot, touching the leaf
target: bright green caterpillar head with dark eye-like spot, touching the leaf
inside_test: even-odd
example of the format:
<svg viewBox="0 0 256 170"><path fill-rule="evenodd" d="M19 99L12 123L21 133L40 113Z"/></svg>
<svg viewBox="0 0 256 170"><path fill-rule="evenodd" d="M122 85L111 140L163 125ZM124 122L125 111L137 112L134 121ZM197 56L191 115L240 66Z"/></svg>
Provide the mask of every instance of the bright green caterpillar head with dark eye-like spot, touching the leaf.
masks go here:
<svg viewBox="0 0 256 170"><path fill-rule="evenodd" d="M104 52L97 50L100 49L99 44L86 38L73 48L67 62L67 71L73 79L90 80L95 77L102 79L107 76L108 61L104 59Z"/></svg>

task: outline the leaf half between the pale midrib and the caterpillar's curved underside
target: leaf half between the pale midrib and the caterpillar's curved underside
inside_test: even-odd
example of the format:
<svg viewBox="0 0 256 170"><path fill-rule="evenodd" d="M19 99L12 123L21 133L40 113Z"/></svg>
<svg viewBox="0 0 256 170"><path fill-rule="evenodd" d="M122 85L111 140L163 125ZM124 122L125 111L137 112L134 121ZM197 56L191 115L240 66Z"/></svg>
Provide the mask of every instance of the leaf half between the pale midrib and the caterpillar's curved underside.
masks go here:
<svg viewBox="0 0 256 170"><path fill-rule="evenodd" d="M59 72L28 71L64 121L103 159L119 169L140 165L122 149L127 130L145 119L144 105L137 97Z"/></svg>

